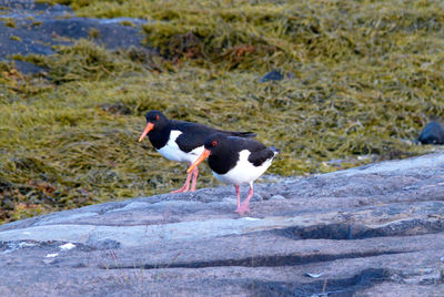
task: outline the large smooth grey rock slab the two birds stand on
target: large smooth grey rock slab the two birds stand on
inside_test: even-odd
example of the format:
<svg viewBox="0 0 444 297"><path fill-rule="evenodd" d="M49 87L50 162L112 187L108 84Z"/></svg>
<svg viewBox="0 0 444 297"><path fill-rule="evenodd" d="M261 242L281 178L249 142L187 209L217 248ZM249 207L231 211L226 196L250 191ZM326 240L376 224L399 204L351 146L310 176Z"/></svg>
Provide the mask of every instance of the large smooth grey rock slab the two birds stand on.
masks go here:
<svg viewBox="0 0 444 297"><path fill-rule="evenodd" d="M2 225L0 296L444 296L444 153L255 188Z"/></svg>

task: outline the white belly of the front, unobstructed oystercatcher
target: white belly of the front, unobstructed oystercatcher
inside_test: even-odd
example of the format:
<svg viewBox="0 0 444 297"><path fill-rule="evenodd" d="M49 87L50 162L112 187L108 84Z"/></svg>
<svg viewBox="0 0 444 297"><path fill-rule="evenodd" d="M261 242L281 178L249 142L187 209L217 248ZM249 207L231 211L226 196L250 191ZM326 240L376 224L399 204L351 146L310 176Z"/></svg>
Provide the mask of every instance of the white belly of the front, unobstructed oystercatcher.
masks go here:
<svg viewBox="0 0 444 297"><path fill-rule="evenodd" d="M231 171L225 174L213 172L213 175L215 178L226 184L251 184L270 167L273 158L266 160L261 166L254 166L249 162L249 155L250 152L248 150L241 151L239 161Z"/></svg>

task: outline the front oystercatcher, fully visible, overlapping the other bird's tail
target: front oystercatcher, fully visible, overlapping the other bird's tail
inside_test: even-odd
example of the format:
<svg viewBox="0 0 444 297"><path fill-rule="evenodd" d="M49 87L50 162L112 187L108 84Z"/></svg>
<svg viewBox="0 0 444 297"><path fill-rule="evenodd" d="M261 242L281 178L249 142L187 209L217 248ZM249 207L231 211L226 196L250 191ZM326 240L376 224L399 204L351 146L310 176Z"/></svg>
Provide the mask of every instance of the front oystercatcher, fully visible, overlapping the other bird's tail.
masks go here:
<svg viewBox="0 0 444 297"><path fill-rule="evenodd" d="M271 165L279 153L274 146L266 147L255 140L213 134L205 139L204 151L188 168L192 172L208 157L208 163L214 176L226 184L234 184L238 194L236 213L250 213L249 203L253 196L253 182ZM249 184L250 191L241 204L240 185Z"/></svg>

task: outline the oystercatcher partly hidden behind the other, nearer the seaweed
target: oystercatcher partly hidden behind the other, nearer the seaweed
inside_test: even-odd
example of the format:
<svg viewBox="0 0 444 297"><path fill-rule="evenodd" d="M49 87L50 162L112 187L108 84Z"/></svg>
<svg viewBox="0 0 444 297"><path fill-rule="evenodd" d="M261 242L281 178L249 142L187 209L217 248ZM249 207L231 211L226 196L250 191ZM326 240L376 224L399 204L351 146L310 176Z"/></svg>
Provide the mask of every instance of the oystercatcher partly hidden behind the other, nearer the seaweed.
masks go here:
<svg viewBox="0 0 444 297"><path fill-rule="evenodd" d="M147 127L140 136L139 142L148 135L151 144L161 155L168 160L188 162L191 165L202 154L203 141L214 133L240 137L256 136L252 132L222 131L198 123L169 120L160 111L150 111L147 113ZM199 175L198 167L189 172L185 184L172 193L188 192L192 174L191 192L195 191L195 183Z"/></svg>

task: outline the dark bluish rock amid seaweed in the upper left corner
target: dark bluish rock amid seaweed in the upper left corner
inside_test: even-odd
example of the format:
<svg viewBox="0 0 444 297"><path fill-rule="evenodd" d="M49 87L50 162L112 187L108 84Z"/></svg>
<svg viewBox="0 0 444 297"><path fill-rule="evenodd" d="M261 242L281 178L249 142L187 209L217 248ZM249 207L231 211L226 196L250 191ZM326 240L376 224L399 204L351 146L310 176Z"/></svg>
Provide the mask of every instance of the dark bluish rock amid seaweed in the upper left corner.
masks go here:
<svg viewBox="0 0 444 297"><path fill-rule="evenodd" d="M52 45L71 44L90 38L108 49L128 49L142 45L143 20L133 18L92 19L77 18L67 6L49 6L33 1L0 0L0 61L13 54L52 54ZM123 25L122 22L133 25ZM14 61L23 73L39 72L40 68Z"/></svg>

